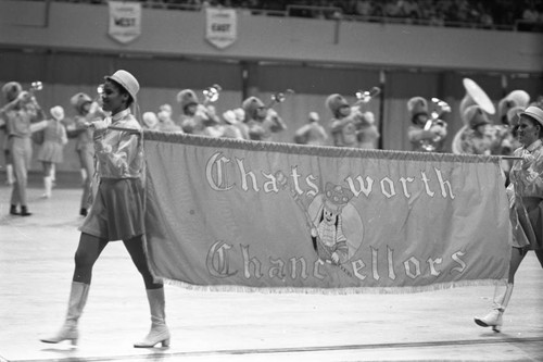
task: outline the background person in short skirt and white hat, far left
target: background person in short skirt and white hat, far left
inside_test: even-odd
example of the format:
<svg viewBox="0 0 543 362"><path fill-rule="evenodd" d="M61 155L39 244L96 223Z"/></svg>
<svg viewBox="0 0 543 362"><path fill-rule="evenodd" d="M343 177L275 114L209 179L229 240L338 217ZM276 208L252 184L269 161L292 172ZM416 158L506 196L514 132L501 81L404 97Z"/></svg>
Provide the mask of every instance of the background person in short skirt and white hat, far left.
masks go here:
<svg viewBox="0 0 543 362"><path fill-rule="evenodd" d="M43 142L39 146L37 160L43 165L43 195L45 199L51 197L53 188L53 166L64 160L64 146L67 143L66 129L62 121L64 120L64 109L60 105L51 110L52 118L48 120L43 127L36 132L43 133Z"/></svg>

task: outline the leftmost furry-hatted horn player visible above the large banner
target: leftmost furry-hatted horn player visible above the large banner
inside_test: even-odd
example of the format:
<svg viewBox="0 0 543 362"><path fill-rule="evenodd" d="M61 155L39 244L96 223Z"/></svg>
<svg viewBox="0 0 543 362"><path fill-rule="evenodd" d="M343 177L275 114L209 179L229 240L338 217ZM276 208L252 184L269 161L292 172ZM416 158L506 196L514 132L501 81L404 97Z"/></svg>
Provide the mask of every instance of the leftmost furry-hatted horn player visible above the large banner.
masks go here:
<svg viewBox="0 0 543 362"><path fill-rule="evenodd" d="M192 89L184 89L177 93L177 102L181 108L179 124L182 132L192 135L210 136L207 127L219 123L212 105L200 104Z"/></svg>

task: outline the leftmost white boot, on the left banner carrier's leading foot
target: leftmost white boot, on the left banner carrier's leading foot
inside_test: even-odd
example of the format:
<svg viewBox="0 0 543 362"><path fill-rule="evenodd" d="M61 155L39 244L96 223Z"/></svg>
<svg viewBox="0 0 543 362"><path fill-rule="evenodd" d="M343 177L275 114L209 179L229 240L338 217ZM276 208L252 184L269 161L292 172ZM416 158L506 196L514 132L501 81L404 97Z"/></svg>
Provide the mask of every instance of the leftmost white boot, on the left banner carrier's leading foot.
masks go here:
<svg viewBox="0 0 543 362"><path fill-rule="evenodd" d="M68 310L66 320L61 329L53 336L41 338L40 340L46 344L59 344L63 340L70 340L72 345L77 345L79 339L79 330L77 328L77 321L81 316L83 309L87 302L89 295L89 284L72 282L72 289L70 291Z"/></svg>

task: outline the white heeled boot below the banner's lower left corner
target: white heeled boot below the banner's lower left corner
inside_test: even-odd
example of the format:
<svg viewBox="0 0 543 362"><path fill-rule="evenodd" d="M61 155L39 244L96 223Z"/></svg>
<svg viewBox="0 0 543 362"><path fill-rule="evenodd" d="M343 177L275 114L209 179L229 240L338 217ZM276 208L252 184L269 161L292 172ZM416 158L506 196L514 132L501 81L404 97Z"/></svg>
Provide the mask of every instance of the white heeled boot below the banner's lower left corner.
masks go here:
<svg viewBox="0 0 543 362"><path fill-rule="evenodd" d="M147 289L147 299L151 310L151 330L142 341L134 344L136 348L153 348L157 344L169 347L169 330L166 326L164 288Z"/></svg>

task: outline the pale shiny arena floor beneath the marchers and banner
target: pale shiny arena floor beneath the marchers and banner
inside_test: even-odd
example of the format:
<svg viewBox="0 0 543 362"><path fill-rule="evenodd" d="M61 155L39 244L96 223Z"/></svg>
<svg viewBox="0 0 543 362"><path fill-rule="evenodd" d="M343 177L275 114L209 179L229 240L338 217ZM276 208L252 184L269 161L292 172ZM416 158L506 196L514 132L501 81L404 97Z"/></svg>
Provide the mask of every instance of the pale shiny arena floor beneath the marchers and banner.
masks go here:
<svg viewBox="0 0 543 362"><path fill-rule="evenodd" d="M66 312L81 192L61 177L53 197L40 199L34 176L34 214L11 216L0 179L0 361L543 361L543 270L533 253L500 334L472 320L491 305L489 286L330 296L167 285L171 347L135 349L150 326L143 283L123 244L112 242L94 266L78 347L41 344Z"/></svg>

